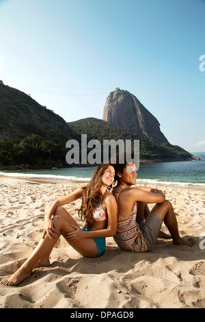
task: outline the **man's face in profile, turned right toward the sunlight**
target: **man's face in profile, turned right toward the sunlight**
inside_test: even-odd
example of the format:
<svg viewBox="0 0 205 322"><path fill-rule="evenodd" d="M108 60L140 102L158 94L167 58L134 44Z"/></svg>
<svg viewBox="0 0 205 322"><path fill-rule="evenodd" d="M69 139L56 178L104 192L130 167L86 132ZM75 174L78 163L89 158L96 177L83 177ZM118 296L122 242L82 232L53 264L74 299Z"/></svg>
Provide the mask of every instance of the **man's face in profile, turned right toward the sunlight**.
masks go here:
<svg viewBox="0 0 205 322"><path fill-rule="evenodd" d="M118 183L126 188L130 188L133 184L136 184L137 168L135 163L126 164L122 173L118 173Z"/></svg>

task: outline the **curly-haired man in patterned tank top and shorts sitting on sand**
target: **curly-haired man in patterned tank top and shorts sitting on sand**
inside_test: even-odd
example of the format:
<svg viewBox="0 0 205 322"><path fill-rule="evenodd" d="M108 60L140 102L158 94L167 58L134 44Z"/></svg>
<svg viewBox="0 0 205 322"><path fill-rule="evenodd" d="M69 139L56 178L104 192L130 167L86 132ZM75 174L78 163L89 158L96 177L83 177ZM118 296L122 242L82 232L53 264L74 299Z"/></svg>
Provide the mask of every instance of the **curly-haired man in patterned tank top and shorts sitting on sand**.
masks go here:
<svg viewBox="0 0 205 322"><path fill-rule="evenodd" d="M136 166L134 163L120 164L119 154L116 163L111 164L115 168L115 179L118 181L113 188L113 195L118 203L115 243L128 251L151 251L158 236L168 237L161 232L164 221L174 245L192 247L193 238L184 240L180 237L172 203L165 199L164 193L158 189L132 187L137 179ZM151 212L147 203L156 203Z"/></svg>

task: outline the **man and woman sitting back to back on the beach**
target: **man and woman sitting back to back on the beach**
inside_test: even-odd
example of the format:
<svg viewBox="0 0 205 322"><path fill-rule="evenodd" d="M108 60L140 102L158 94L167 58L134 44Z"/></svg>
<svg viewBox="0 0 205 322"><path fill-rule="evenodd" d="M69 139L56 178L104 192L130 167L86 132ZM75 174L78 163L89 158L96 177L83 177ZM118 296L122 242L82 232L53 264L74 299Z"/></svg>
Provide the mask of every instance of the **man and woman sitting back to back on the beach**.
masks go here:
<svg viewBox="0 0 205 322"><path fill-rule="evenodd" d="M126 160L126 159L124 159ZM174 245L192 246L194 240L180 238L172 204L161 190L132 187L136 184L134 163L101 164L94 171L87 186L55 201L45 217L42 239L31 256L3 285L16 286L29 277L33 269L49 266L50 253L60 235L81 256L94 258L105 251L105 238L113 236L115 243L126 251L151 251L156 238L169 238L161 231L165 223ZM110 186L118 184L111 192ZM77 221L62 206L82 198L81 219ZM147 203L156 203L152 212Z"/></svg>

